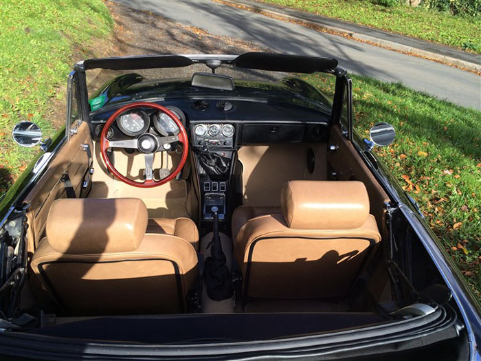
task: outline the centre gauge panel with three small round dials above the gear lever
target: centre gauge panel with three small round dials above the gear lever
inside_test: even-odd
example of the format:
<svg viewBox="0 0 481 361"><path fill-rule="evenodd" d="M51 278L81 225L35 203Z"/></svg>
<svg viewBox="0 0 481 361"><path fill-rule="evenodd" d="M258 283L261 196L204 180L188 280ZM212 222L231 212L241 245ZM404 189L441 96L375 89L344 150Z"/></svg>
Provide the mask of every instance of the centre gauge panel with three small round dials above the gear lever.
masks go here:
<svg viewBox="0 0 481 361"><path fill-rule="evenodd" d="M196 124L192 129L194 146L227 146L234 145L236 129L232 124Z"/></svg>

